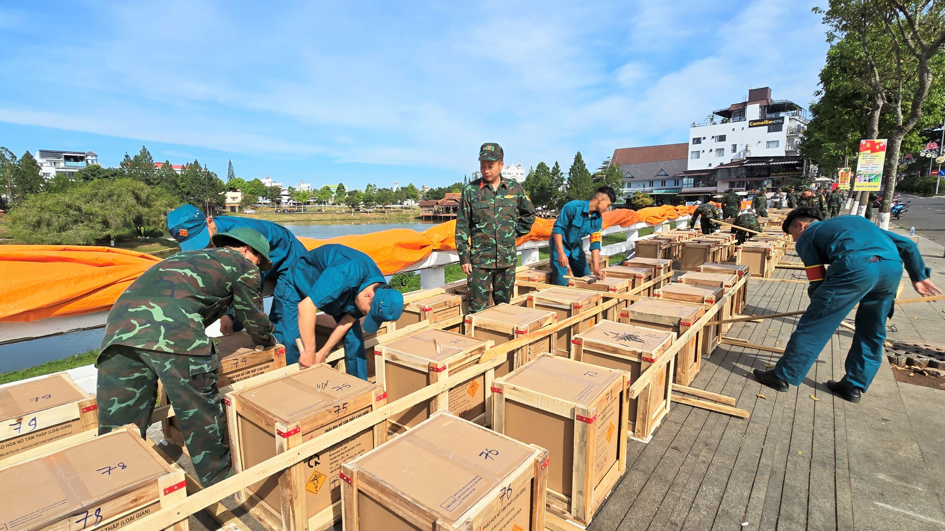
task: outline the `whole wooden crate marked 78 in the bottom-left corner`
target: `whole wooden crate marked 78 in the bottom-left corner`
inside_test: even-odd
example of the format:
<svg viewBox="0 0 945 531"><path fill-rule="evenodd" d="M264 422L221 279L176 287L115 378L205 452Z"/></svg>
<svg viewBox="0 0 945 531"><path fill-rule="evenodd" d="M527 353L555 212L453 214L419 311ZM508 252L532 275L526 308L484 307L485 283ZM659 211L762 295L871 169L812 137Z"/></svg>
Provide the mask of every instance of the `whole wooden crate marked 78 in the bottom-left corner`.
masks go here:
<svg viewBox="0 0 945 531"><path fill-rule="evenodd" d="M0 529L111 531L186 496L180 467L124 426L0 469ZM187 531L187 520L167 529Z"/></svg>

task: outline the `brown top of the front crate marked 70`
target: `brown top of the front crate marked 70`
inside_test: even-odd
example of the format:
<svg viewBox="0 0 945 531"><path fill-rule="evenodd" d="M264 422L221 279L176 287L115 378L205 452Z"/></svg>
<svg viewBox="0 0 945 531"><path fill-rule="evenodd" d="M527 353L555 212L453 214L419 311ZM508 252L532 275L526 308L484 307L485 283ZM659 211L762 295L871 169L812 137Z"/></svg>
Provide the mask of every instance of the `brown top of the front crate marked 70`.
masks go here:
<svg viewBox="0 0 945 531"><path fill-rule="evenodd" d="M389 488L387 495L455 522L510 483L509 475L535 454L533 447L438 412L348 466Z"/></svg>

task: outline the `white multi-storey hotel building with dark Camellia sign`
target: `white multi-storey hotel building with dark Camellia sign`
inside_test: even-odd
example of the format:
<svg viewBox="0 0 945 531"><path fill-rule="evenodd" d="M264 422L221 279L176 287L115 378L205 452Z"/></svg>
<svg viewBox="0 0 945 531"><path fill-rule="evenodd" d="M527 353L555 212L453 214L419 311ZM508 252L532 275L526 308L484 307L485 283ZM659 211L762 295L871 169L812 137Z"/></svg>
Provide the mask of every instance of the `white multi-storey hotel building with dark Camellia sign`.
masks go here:
<svg viewBox="0 0 945 531"><path fill-rule="evenodd" d="M717 116L717 118L716 118ZM712 119L689 128L688 170L747 159L798 154L807 114L786 99L771 99L771 89L748 90L741 103L714 111Z"/></svg>

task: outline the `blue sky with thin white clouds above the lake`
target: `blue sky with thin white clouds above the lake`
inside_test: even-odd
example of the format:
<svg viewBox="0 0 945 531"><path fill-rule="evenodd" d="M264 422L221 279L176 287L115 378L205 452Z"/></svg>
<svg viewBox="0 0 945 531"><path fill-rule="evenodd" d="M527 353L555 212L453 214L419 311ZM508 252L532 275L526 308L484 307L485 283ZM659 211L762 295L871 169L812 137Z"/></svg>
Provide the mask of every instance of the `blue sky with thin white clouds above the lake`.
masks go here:
<svg viewBox="0 0 945 531"><path fill-rule="evenodd" d="M750 86L804 107L811 5L715 2L5 2L0 146L225 178L431 186L478 168L686 142Z"/></svg>

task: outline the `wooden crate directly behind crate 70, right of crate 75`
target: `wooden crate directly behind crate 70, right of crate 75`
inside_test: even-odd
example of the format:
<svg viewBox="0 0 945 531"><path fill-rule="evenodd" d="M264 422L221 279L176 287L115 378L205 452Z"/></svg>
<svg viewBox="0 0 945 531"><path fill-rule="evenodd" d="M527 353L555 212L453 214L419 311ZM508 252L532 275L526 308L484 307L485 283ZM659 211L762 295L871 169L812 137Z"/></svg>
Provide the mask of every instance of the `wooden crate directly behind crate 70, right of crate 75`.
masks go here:
<svg viewBox="0 0 945 531"><path fill-rule="evenodd" d="M374 348L377 383L384 386L387 400L392 402L475 365L492 345L491 340L436 328L399 337ZM463 419L489 425L491 410L487 399L491 399L486 391L492 385L493 376L494 369L450 389L449 410ZM442 406L437 399L418 403L391 417L388 429L391 433L401 433L426 420Z"/></svg>

